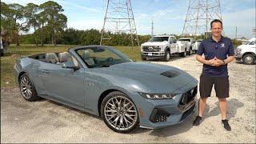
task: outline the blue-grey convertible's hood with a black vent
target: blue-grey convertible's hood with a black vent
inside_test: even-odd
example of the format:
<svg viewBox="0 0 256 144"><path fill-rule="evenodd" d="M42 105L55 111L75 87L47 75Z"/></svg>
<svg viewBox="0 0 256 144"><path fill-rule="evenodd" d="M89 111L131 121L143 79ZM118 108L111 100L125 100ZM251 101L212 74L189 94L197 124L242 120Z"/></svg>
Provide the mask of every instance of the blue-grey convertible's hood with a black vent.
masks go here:
<svg viewBox="0 0 256 144"><path fill-rule="evenodd" d="M96 69L94 69L96 70ZM173 66L164 66L146 62L126 62L106 68L100 68L98 73L114 80L126 89L133 86L140 92L170 93L197 80L183 70Z"/></svg>

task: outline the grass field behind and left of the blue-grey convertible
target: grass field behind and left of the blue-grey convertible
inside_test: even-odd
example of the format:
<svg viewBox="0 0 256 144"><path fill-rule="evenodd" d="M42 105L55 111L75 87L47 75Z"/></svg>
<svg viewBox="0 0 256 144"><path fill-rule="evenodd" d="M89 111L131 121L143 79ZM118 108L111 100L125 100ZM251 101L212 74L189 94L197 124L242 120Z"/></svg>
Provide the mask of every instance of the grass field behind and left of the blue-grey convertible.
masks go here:
<svg viewBox="0 0 256 144"><path fill-rule="evenodd" d="M3 57L1 57L1 87L15 86L14 81L14 62L21 56L27 56L32 54L40 54L46 52L64 52L68 48L73 46L66 45L46 45L46 46L34 46L34 45L21 45L21 46L9 46L8 51ZM129 46L114 46L122 53L128 55L134 61L141 61L140 49Z"/></svg>

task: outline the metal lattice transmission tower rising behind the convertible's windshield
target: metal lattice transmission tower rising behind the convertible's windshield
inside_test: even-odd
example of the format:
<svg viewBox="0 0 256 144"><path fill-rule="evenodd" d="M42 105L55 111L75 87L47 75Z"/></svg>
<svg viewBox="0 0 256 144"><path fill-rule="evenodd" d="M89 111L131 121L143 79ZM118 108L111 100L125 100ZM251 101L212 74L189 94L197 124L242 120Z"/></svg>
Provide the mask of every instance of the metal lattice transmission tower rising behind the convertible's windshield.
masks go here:
<svg viewBox="0 0 256 144"><path fill-rule="evenodd" d="M103 40L111 39L111 33L129 34L132 47L134 47L134 41L139 46L130 0L107 0L100 45L102 45Z"/></svg>

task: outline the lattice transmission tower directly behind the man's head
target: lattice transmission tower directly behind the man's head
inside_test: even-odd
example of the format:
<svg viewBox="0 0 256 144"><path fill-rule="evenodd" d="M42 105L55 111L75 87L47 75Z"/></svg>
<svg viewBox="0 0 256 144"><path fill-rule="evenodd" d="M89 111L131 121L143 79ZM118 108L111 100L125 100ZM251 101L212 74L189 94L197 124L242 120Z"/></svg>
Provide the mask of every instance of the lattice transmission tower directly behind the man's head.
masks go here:
<svg viewBox="0 0 256 144"><path fill-rule="evenodd" d="M190 0L182 35L206 34L207 38L210 22L214 19L222 20L220 0Z"/></svg>

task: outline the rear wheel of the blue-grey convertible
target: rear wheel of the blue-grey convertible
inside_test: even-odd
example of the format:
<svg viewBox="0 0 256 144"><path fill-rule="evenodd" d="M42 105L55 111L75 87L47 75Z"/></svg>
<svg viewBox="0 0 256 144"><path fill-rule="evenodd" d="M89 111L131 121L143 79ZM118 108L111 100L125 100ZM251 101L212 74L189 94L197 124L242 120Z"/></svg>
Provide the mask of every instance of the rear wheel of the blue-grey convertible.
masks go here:
<svg viewBox="0 0 256 144"><path fill-rule="evenodd" d="M38 100L39 97L34 88L34 84L27 74L22 74L21 78L19 78L19 88L22 93L22 97L27 101L32 102Z"/></svg>

